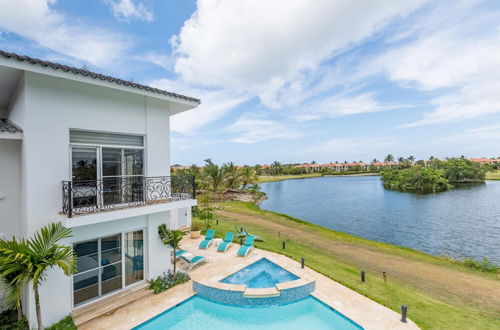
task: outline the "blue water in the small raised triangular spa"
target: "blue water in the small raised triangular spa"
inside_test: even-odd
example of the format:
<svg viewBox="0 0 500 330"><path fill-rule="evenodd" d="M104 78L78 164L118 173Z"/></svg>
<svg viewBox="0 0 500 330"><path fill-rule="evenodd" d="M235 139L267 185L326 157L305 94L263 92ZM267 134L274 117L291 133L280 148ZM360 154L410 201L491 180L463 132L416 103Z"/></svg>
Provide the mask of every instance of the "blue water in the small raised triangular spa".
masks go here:
<svg viewBox="0 0 500 330"><path fill-rule="evenodd" d="M299 277L266 258L221 280L222 283L245 284L247 288L272 288L278 283L298 280Z"/></svg>

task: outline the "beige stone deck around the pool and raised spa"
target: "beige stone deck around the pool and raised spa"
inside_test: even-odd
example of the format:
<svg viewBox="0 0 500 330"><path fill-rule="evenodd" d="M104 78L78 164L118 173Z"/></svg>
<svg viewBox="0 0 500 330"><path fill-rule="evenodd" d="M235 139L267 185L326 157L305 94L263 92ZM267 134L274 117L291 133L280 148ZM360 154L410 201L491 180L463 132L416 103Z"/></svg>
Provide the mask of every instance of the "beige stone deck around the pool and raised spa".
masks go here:
<svg viewBox="0 0 500 330"><path fill-rule="evenodd" d="M344 314L364 329L419 329L411 320L400 321L401 316L394 311L376 303L365 296L321 275L309 268L300 268L300 263L280 254L252 249L246 258L237 257L237 244L232 244L226 253L217 252L212 245L208 250L199 250L200 239L185 237L182 248L195 255L202 255L208 262L201 263L190 272L193 281L217 283L220 279L239 269L266 257L290 272L307 280L316 282L316 290L312 294L323 303ZM159 295L145 297L127 306L85 323L79 329L131 329L165 310L193 296L192 282L184 283ZM411 315L411 311L410 311Z"/></svg>

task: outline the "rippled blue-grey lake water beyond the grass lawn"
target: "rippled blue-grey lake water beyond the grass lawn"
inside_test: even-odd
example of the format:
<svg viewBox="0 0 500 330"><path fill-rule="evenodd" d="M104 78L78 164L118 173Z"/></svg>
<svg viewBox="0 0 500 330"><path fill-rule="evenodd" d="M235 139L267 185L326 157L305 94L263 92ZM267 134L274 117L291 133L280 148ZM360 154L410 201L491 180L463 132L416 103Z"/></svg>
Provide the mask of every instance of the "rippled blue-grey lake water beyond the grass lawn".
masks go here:
<svg viewBox="0 0 500 330"><path fill-rule="evenodd" d="M384 189L379 177L320 177L261 184L262 209L363 238L457 259L500 264L500 181L439 194Z"/></svg>

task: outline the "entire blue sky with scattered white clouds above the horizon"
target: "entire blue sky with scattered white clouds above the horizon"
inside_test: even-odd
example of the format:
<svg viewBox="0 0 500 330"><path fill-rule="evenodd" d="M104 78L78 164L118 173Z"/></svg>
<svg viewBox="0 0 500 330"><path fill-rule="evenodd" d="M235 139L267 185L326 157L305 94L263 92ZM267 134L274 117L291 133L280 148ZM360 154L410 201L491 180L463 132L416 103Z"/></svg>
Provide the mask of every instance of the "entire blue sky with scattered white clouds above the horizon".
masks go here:
<svg viewBox="0 0 500 330"><path fill-rule="evenodd" d="M500 2L0 0L0 49L201 98L172 164L500 156Z"/></svg>

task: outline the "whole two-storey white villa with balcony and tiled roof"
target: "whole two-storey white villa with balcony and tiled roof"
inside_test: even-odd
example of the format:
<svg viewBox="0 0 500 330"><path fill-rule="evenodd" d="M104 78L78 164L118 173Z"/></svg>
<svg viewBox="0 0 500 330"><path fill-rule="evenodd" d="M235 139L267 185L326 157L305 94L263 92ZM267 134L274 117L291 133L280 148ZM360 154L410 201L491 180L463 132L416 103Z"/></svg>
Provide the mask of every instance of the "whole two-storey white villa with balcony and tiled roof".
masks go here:
<svg viewBox="0 0 500 330"><path fill-rule="evenodd" d="M41 286L44 326L170 269L157 227L189 226L196 204L194 181L170 177L170 116L199 104L0 51L0 238L61 221L78 255ZM35 326L30 289L23 307Z"/></svg>

